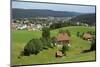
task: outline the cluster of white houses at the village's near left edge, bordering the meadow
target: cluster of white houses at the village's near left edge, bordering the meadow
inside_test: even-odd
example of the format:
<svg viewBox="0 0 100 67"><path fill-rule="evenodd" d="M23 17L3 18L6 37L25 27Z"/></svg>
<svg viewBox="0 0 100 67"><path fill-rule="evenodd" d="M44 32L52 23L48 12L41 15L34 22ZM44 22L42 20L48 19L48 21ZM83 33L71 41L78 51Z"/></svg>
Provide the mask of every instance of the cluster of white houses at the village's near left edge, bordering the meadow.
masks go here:
<svg viewBox="0 0 100 67"><path fill-rule="evenodd" d="M41 30L43 26L41 24L33 24L33 23L17 23L16 21L13 21L11 23L11 29L12 30Z"/></svg>

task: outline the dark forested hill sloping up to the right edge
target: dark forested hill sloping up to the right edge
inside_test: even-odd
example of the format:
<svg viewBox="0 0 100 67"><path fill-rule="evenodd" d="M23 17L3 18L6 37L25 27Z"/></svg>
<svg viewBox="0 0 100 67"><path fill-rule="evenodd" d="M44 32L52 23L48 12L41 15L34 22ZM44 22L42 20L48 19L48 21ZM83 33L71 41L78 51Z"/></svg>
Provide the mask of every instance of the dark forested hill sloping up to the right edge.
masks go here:
<svg viewBox="0 0 100 67"><path fill-rule="evenodd" d="M87 23L89 25L95 25L96 23L96 14L90 13L90 14L84 14L79 15L71 19L72 22L82 22Z"/></svg>

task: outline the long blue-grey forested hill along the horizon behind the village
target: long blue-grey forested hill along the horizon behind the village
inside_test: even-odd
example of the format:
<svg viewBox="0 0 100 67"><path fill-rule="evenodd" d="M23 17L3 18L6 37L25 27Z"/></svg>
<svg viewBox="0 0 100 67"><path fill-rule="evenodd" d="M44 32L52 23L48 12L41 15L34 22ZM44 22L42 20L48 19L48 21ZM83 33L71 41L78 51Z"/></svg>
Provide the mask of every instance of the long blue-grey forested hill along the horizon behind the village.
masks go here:
<svg viewBox="0 0 100 67"><path fill-rule="evenodd" d="M72 17L80 15L77 12L53 11L44 9L12 9L12 18L30 18L30 17Z"/></svg>

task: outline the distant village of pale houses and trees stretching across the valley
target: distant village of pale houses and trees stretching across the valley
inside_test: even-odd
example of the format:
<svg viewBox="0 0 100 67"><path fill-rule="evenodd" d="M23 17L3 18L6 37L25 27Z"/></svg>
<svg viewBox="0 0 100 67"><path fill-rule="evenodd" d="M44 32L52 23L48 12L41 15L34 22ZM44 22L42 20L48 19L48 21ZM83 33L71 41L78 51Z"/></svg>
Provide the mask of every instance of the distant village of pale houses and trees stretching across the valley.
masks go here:
<svg viewBox="0 0 100 67"><path fill-rule="evenodd" d="M49 27L54 23L67 23L72 17L36 17L33 19L12 19L11 21L11 29L12 30L42 30L43 27ZM86 26L89 25L86 23L76 22L75 25L77 26Z"/></svg>

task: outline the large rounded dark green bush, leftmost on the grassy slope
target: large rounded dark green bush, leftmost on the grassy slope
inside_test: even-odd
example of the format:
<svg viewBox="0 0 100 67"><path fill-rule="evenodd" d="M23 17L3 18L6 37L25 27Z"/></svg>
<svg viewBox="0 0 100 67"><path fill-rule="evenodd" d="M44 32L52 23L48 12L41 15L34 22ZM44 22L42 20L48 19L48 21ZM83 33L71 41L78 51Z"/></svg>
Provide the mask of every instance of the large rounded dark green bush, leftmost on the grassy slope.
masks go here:
<svg viewBox="0 0 100 67"><path fill-rule="evenodd" d="M24 55L29 56L30 54L38 54L43 49L41 40L32 39L24 47Z"/></svg>

